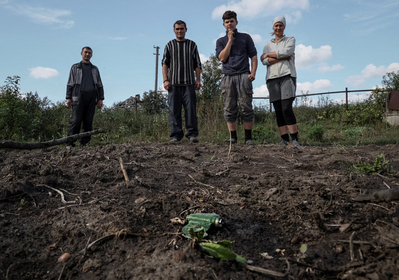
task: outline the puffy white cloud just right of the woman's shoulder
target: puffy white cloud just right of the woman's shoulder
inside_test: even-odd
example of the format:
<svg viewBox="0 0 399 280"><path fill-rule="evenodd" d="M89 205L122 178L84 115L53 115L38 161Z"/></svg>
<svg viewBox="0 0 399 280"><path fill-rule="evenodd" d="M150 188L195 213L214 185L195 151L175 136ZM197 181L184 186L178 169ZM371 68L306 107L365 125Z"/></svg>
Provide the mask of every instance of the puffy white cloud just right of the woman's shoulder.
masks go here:
<svg viewBox="0 0 399 280"><path fill-rule="evenodd" d="M313 49L312 46L306 47L303 44L299 44L295 47L295 67L303 69L329 59L331 56L332 51L329 45Z"/></svg>

